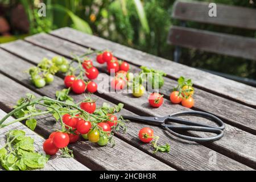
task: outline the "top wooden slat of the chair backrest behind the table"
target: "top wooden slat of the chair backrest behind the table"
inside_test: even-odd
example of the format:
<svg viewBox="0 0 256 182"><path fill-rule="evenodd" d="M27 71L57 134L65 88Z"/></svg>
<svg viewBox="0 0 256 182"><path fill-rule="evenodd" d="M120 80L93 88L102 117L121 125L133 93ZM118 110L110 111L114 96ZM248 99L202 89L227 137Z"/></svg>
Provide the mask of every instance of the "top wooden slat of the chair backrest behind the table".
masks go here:
<svg viewBox="0 0 256 182"><path fill-rule="evenodd" d="M176 1L172 18L256 30L255 9L217 4L217 17L210 17L209 3Z"/></svg>

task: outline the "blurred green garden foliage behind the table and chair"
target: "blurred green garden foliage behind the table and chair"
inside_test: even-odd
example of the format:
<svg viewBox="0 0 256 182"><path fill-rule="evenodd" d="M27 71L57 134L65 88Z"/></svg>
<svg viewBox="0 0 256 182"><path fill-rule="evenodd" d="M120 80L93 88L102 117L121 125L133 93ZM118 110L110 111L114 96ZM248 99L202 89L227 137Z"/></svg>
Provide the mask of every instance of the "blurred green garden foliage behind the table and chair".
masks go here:
<svg viewBox="0 0 256 182"><path fill-rule="evenodd" d="M39 1L0 0L6 4L23 3L24 7L35 7ZM226 5L256 7L253 0L197 0ZM171 18L174 0L45 0L46 18L30 15L30 34L48 32L60 27L74 27L81 31L140 49L154 55L173 60L174 46L167 44L167 35L173 24L179 21ZM143 11L138 10L142 3ZM143 17L143 13L146 17ZM33 16L34 15L34 16ZM78 27L80 26L80 27ZM188 27L255 38L255 31L240 28L213 26L210 24L187 22ZM89 28L88 28L89 27ZM22 32L18 32L22 34ZM182 49L180 63L256 79L256 61Z"/></svg>

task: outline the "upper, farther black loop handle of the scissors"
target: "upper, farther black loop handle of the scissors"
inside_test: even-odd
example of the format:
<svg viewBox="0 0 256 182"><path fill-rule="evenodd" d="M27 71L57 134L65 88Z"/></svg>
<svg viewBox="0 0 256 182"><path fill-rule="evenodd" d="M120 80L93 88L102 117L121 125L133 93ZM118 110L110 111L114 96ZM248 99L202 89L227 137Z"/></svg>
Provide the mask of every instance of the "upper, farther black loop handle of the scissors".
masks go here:
<svg viewBox="0 0 256 182"><path fill-rule="evenodd" d="M187 119L176 118L177 116L181 116L181 115L196 115L198 117L208 118L208 119L216 122L218 124L218 126L209 126L209 125L204 125L201 123L188 121ZM184 112L180 112L180 113L175 113L175 114L169 115L169 117L167 119L169 121L173 121L173 122L188 125L188 126L201 126L201 127L208 127L208 128L212 128L212 129L219 129L219 130L225 129L225 123L223 121L221 121L220 118L216 117L213 114L205 113L202 111L184 111ZM199 127L199 129L200 129L200 127ZM197 131L200 131L200 130L197 130Z"/></svg>

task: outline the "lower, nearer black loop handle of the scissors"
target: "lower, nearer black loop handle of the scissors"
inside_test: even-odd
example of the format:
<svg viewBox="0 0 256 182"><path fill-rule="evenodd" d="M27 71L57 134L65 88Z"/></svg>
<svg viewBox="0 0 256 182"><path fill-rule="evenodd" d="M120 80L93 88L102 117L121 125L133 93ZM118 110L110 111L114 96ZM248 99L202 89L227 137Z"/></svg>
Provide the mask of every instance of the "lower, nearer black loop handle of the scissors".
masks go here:
<svg viewBox="0 0 256 182"><path fill-rule="evenodd" d="M211 127L201 127L201 126L172 126L172 125L162 125L167 131L169 131L172 135L175 135L176 137L190 140L193 142L213 142L215 140L218 140L223 137L224 131L220 129L215 129ZM214 137L207 137L207 138L200 138L200 137L190 137L187 135L182 135L179 133L176 133L175 131L172 131L171 129L179 129L179 130L185 130L185 131L204 131L209 133L216 133L217 135Z"/></svg>

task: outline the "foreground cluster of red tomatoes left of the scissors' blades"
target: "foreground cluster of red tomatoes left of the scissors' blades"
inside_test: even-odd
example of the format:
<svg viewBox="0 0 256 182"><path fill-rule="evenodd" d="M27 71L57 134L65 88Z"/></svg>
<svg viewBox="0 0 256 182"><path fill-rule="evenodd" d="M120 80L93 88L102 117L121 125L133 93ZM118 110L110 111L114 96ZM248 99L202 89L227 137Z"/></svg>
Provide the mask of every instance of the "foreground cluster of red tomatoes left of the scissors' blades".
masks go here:
<svg viewBox="0 0 256 182"><path fill-rule="evenodd" d="M82 101L80 108L86 113L93 114L96 110L96 101L90 98ZM55 131L49 135L44 142L43 149L47 155L55 155L60 149L68 146L69 143L75 143L82 138L89 142L97 143L99 146L106 146L113 137L112 130L117 127L118 118L112 113L106 114L105 121L85 121L80 114L72 116L64 114L62 121L65 124L65 131Z"/></svg>

